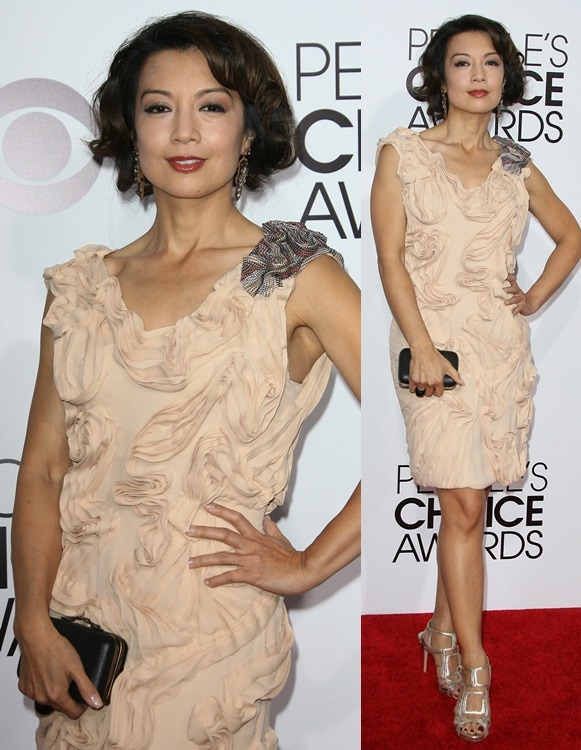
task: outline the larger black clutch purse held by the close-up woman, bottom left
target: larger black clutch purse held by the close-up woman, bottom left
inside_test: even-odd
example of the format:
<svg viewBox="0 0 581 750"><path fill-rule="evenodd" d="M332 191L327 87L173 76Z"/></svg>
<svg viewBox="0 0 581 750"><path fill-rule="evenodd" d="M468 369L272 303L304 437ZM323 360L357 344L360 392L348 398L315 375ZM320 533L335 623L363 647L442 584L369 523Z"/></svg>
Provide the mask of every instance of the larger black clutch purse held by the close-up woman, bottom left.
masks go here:
<svg viewBox="0 0 581 750"><path fill-rule="evenodd" d="M51 617L53 625L78 651L87 676L97 688L104 705L111 699L111 689L123 670L127 643L118 635L108 633L86 617ZM20 672L20 662L18 662ZM69 693L77 703L84 703L77 686L71 682ZM52 712L50 706L34 704L39 714Z"/></svg>

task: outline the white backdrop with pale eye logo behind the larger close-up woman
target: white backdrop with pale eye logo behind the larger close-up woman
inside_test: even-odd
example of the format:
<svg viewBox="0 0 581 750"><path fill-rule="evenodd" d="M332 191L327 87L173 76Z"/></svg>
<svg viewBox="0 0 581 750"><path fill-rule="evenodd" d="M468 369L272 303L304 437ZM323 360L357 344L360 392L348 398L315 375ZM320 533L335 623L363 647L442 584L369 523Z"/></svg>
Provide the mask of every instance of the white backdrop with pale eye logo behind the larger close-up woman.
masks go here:
<svg viewBox="0 0 581 750"><path fill-rule="evenodd" d="M16 689L12 638L10 512L35 376L45 297L42 270L87 243L118 247L152 220L121 200L108 169L95 170L80 144L85 99L111 53L152 16L182 3L28 0L3 3L0 49L0 712L2 746L32 746L35 718ZM305 220L340 250L359 282L360 19L355 3L295 0L284 13L261 0L202 0L238 21L273 52L296 101L309 158L277 180L246 214ZM283 18L284 16L284 18ZM42 79L40 81L33 79ZM306 119L305 119L306 118ZM304 547L339 510L359 476L359 414L339 378L309 422L280 524ZM288 515L287 515L288 514ZM273 706L282 750L359 746L359 566L289 601L295 666Z"/></svg>

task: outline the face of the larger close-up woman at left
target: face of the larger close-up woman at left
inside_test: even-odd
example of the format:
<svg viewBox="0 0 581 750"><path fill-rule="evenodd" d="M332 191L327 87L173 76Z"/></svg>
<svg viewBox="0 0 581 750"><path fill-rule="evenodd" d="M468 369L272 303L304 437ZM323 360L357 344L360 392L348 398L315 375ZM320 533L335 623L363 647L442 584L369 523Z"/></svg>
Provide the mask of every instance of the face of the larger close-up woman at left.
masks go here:
<svg viewBox="0 0 581 750"><path fill-rule="evenodd" d="M216 81L198 50L147 59L135 132L141 169L158 198L230 195L240 155L251 143L240 96Z"/></svg>

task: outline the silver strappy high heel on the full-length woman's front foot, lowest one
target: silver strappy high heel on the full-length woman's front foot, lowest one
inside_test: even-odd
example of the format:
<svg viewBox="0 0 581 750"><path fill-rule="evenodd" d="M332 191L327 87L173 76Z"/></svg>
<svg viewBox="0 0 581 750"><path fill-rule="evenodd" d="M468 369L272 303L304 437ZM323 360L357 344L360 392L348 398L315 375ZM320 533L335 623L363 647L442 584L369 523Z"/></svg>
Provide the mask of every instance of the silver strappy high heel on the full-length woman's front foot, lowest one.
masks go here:
<svg viewBox="0 0 581 750"><path fill-rule="evenodd" d="M456 734L468 742L482 742L488 737L490 730L489 692L492 679L490 662L486 659L486 664L481 667L475 667L474 669L460 667L460 670L460 697L454 707ZM480 698L480 708L478 709L468 708L468 701L471 698L471 704L474 705L475 703L473 696ZM473 731L469 730L469 725L475 727Z"/></svg>

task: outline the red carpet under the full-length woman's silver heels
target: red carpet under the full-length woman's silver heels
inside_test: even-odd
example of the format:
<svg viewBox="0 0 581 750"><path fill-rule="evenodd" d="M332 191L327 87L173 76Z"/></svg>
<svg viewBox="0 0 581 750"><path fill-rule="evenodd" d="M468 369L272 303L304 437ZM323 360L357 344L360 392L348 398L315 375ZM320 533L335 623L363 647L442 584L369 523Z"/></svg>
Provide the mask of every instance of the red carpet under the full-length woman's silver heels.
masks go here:
<svg viewBox="0 0 581 750"><path fill-rule="evenodd" d="M362 750L462 750L454 699L422 671L429 615L362 618ZM492 725L484 750L581 748L581 609L485 612Z"/></svg>

